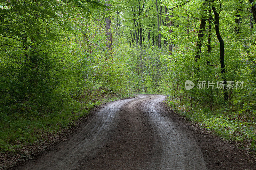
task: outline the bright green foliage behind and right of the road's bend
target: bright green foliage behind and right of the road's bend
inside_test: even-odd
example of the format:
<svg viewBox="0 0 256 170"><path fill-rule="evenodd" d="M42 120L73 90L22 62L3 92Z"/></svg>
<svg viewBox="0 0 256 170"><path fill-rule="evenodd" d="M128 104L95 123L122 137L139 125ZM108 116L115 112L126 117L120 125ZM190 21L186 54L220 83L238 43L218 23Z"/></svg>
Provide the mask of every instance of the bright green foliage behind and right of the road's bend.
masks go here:
<svg viewBox="0 0 256 170"><path fill-rule="evenodd" d="M123 23L126 27L122 27L122 24L114 27L116 30L123 29L125 37L124 40L117 35L116 43L121 45L116 45L115 50L124 59L130 90L163 93L168 96L167 103L173 109L193 109L188 114L192 120L201 122L221 136L239 141L246 138L254 146L256 26L250 11L254 2L164 0L158 1L158 12L156 1L143 3L144 1L124 1L125 12L115 15L115 22L118 23L118 18L125 20ZM160 16L161 4L162 12L165 7L168 12L167 15L163 13L161 31L158 31L156 17L157 13ZM216 18L212 7L219 13L219 31L224 41L225 74L221 73L220 41L216 35ZM204 36L200 38L200 60L195 62L203 18L206 24ZM142 46L136 42L136 38L139 41L140 26L145 39ZM157 44L159 33L162 36L161 48L153 45ZM172 55L168 54L170 44ZM216 83L222 81L223 77L235 83L244 82L242 89L227 90L228 100L223 97L224 91L216 88ZM194 89L185 89L186 80L195 83ZM197 89L199 81L206 82L205 89ZM212 81L215 83L214 88L207 89L208 82ZM236 124L239 124L239 128ZM236 137L237 133L239 135Z"/></svg>

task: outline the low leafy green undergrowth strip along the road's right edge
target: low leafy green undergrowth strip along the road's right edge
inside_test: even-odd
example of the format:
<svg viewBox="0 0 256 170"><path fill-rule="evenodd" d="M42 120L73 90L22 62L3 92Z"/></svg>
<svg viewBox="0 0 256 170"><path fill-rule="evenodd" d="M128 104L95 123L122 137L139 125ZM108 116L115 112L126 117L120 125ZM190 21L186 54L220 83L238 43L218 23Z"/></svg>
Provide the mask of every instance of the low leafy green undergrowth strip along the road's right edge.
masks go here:
<svg viewBox="0 0 256 170"><path fill-rule="evenodd" d="M167 105L193 123L214 132L225 140L240 142L242 148L256 151L255 121L242 119L240 112L228 108L208 109L204 107L189 108L189 104L180 105L168 99Z"/></svg>

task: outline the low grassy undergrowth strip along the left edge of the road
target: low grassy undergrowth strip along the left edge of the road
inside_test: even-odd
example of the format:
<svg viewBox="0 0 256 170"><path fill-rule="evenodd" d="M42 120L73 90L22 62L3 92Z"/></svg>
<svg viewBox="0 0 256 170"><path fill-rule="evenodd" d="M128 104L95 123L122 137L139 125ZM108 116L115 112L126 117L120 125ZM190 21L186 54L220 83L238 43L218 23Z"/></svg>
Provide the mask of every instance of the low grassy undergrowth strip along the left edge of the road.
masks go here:
<svg viewBox="0 0 256 170"><path fill-rule="evenodd" d="M18 152L22 145L32 145L45 140L45 134L61 131L71 127L77 119L88 115L91 108L103 103L119 100L129 95L106 95L90 102L66 102L60 112L48 113L44 116L17 115L7 117L0 122L0 153Z"/></svg>

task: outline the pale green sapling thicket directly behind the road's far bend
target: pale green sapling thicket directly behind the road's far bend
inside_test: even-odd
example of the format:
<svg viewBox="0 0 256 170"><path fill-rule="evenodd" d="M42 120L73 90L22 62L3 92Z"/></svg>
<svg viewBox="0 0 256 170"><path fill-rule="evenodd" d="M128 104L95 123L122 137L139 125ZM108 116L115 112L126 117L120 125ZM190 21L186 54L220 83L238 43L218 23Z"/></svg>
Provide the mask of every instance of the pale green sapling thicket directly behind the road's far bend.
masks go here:
<svg viewBox="0 0 256 170"><path fill-rule="evenodd" d="M161 92L158 88L163 73L161 67L164 61L163 54L167 53L165 48L144 42L142 47L129 48L127 44L122 44L115 50L114 54L123 60L128 87L132 92Z"/></svg>

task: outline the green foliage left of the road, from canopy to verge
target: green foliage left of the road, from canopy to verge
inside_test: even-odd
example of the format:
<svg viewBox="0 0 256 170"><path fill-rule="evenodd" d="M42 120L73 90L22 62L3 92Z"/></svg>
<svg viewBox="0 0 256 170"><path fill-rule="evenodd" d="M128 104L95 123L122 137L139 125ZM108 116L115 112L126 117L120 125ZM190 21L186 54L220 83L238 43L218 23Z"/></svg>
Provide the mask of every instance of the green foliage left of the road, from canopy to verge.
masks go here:
<svg viewBox="0 0 256 170"><path fill-rule="evenodd" d="M105 9L90 0L0 3L0 152L47 140L126 96L124 69L105 43Z"/></svg>

